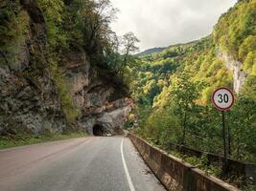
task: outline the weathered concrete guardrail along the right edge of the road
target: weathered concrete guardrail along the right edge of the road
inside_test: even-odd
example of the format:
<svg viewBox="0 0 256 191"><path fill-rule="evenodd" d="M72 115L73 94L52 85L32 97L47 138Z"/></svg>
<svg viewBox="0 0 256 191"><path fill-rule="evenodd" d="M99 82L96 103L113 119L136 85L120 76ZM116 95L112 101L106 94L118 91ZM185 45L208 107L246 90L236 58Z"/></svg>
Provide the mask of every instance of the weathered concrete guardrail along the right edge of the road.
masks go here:
<svg viewBox="0 0 256 191"><path fill-rule="evenodd" d="M172 191L237 191L228 183L207 176L182 159L167 155L142 138L128 134L142 158L163 185Z"/></svg>

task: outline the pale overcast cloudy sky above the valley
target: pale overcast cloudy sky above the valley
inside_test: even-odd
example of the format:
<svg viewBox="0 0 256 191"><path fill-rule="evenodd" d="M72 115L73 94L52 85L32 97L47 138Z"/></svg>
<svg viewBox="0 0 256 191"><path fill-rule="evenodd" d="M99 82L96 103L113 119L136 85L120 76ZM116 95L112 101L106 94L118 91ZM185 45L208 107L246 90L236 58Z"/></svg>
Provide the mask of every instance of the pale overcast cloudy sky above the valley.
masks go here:
<svg viewBox="0 0 256 191"><path fill-rule="evenodd" d="M210 34L221 13L237 0L111 0L119 9L112 29L134 32L141 51L188 42Z"/></svg>

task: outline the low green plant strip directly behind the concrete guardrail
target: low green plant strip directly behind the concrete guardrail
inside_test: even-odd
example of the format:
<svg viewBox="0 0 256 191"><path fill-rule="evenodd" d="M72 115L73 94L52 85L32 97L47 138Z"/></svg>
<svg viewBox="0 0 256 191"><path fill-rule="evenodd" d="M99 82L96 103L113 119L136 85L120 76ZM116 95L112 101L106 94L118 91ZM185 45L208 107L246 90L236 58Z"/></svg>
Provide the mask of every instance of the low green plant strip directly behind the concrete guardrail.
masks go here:
<svg viewBox="0 0 256 191"><path fill-rule="evenodd" d="M151 138L146 138L152 146L159 148L168 155L175 156L202 170L206 175L221 179L239 189L256 190L256 171L253 163L235 159L228 159L228 173L222 171L223 157L221 155L206 153L186 146L173 143L159 144Z"/></svg>

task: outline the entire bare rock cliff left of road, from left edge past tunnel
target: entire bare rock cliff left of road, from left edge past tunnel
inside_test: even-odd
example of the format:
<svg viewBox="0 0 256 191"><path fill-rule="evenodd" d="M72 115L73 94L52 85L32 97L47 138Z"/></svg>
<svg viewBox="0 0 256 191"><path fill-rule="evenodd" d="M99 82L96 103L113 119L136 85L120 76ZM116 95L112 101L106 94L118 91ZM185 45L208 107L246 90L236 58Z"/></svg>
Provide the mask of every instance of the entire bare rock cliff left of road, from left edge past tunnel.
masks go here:
<svg viewBox="0 0 256 191"><path fill-rule="evenodd" d="M101 135L122 133L131 104L124 96L126 91L110 74L91 66L86 53L76 45L63 53L64 61L60 63L81 113L76 122L67 123L44 54L47 49L44 15L35 1L20 3L29 30L24 39L12 44L17 50L12 59L0 50L0 134L39 135L68 129L84 129L89 134L96 131Z"/></svg>

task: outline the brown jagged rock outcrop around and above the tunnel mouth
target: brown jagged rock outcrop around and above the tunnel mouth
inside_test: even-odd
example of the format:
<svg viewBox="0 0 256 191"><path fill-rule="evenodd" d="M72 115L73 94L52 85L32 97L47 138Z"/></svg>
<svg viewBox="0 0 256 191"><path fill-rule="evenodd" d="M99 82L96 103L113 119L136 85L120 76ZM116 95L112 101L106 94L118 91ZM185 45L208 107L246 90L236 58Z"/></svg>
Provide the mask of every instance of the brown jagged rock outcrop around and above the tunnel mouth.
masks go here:
<svg viewBox="0 0 256 191"><path fill-rule="evenodd" d="M91 67L82 51L71 51L67 55L66 71L71 93L76 105L81 108L80 127L90 135L94 134L93 128L97 125L103 128L103 136L123 134L131 99L122 98L120 92L125 91L101 75L103 72L100 69L97 71Z"/></svg>

